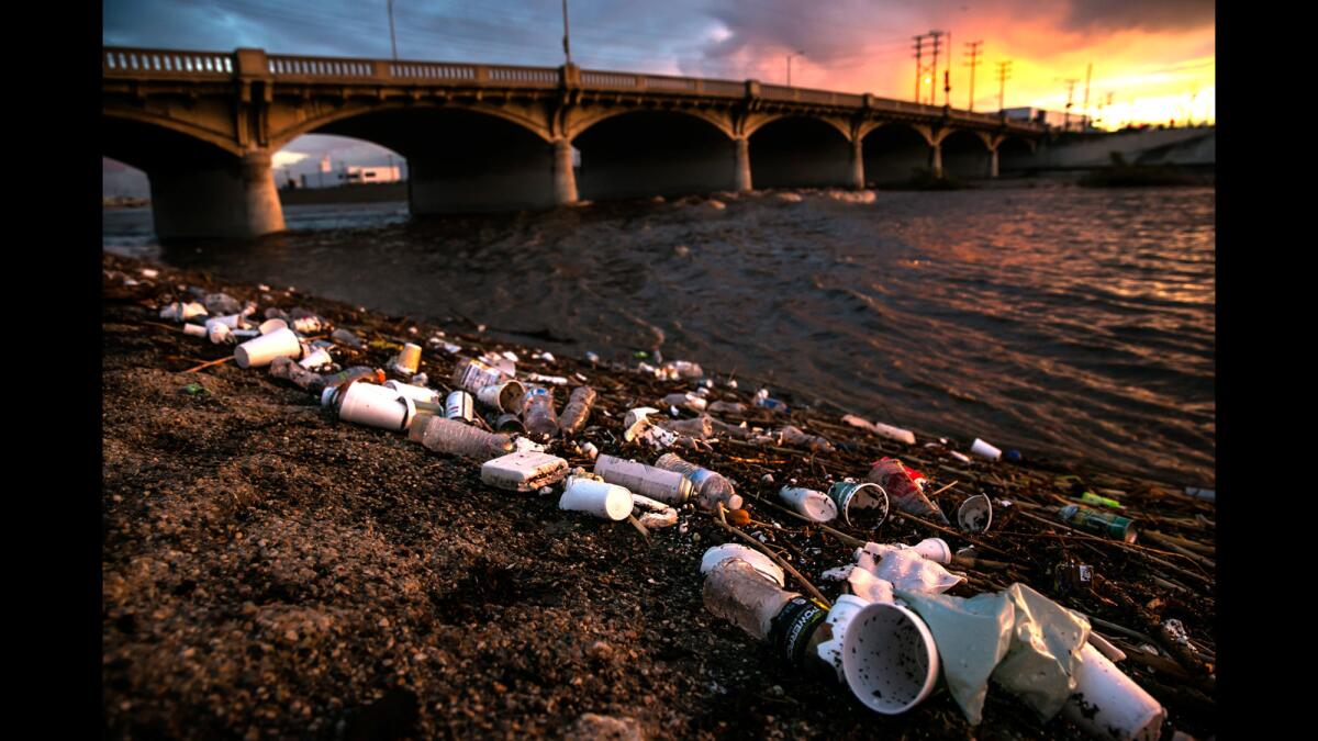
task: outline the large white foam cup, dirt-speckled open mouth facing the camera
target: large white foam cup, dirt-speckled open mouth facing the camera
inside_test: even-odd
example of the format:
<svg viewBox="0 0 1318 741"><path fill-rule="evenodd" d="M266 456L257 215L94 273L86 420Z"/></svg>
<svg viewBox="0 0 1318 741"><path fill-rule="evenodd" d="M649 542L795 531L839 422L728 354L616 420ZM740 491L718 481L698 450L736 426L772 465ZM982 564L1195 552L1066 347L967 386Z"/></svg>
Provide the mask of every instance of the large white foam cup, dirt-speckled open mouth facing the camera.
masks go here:
<svg viewBox="0 0 1318 741"><path fill-rule="evenodd" d="M895 603L871 603L850 620L842 674L861 704L899 715L919 705L938 679L938 649L920 616Z"/></svg>

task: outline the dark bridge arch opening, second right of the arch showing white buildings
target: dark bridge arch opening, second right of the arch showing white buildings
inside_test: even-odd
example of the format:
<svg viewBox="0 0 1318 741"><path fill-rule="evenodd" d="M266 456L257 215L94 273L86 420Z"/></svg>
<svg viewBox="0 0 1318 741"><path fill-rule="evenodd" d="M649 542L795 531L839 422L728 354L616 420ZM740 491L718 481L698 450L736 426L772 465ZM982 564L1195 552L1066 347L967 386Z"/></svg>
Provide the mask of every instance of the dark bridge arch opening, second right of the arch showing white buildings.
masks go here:
<svg viewBox="0 0 1318 741"><path fill-rule="evenodd" d="M850 137L834 121L779 116L751 129L749 138L755 187L859 185L853 175Z"/></svg>

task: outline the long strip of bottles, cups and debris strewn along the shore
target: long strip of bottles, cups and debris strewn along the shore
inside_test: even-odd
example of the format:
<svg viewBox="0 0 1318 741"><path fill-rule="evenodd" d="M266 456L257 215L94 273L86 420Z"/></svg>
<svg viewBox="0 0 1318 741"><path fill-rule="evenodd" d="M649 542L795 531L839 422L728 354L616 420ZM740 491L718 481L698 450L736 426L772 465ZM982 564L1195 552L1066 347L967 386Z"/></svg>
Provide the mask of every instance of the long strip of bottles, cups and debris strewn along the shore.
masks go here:
<svg viewBox="0 0 1318 741"><path fill-rule="evenodd" d="M946 690L974 725L1004 692L1040 723L1112 738L1211 715L1211 490L1027 464L658 352L560 359L186 293L157 316L232 347L207 365L266 373L341 423L647 541L717 527L729 542L704 554L706 609L876 713Z"/></svg>

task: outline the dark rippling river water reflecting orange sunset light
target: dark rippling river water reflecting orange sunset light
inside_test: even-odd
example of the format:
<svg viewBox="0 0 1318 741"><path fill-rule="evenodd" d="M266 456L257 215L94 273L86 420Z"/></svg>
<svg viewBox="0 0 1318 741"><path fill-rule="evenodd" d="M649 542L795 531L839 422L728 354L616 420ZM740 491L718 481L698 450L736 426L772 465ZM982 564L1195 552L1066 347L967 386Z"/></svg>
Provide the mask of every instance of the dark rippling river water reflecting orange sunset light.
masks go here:
<svg viewBox="0 0 1318 741"><path fill-rule="evenodd" d="M148 210L105 210L103 247L1214 485L1214 189L716 198L424 220L294 206L282 235L163 248Z"/></svg>

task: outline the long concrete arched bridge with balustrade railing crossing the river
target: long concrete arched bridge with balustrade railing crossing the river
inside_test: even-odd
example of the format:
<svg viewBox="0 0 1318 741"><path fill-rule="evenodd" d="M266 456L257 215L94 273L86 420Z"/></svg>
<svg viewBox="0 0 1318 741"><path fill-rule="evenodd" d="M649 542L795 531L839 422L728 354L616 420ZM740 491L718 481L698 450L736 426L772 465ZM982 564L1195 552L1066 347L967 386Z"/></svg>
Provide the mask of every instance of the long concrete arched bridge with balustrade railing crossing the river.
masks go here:
<svg viewBox="0 0 1318 741"><path fill-rule="evenodd" d="M104 47L103 154L146 173L161 239L283 228L272 154L306 133L407 160L414 215L577 199L996 177L1039 124L854 95L563 67ZM573 167L572 150L580 152Z"/></svg>

